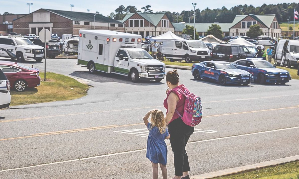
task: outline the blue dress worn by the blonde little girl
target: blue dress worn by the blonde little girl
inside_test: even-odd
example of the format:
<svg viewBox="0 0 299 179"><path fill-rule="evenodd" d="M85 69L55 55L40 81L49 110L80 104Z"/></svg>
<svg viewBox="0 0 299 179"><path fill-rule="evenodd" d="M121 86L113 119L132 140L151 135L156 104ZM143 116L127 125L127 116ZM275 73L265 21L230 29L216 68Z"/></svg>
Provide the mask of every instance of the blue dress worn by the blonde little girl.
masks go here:
<svg viewBox="0 0 299 179"><path fill-rule="evenodd" d="M150 129L151 123L147 124L147 129ZM165 137L168 136L168 129L161 134L158 127L153 127L149 130L149 136L147 138L147 158L152 163L167 164L167 146L165 143Z"/></svg>

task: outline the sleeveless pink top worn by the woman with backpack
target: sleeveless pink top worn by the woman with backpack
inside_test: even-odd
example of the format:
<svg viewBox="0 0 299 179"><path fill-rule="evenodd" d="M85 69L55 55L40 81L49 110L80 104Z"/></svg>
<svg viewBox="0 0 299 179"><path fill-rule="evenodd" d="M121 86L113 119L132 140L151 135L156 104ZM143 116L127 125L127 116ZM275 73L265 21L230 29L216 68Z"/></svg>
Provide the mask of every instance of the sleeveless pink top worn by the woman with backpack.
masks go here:
<svg viewBox="0 0 299 179"><path fill-rule="evenodd" d="M167 99L168 99L168 96L170 95L171 92L174 92L176 95L179 96L179 101L176 103L176 110L180 113L181 116L183 116L183 114L184 114L184 107L185 107L186 97L184 95L182 95L180 92L177 91L178 88L181 89L182 91L185 91L185 90L189 91L183 84L181 84L181 85L177 86L176 88L173 88L172 90L168 91L167 98L164 99L164 107L165 107L165 109L167 109L166 114L168 113ZM173 120L175 120L179 117L180 116L175 112L169 123L171 123Z"/></svg>

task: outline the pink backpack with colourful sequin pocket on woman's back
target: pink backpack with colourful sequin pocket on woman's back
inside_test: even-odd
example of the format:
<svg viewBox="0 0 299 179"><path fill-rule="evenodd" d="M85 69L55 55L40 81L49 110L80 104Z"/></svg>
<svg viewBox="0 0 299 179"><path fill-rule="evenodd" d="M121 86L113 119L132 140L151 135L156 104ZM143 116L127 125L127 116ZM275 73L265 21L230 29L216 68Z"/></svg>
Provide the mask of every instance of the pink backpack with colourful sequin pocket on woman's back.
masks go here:
<svg viewBox="0 0 299 179"><path fill-rule="evenodd" d="M201 99L193 93L190 93L186 88L184 91L179 88L176 90L186 97L183 116L181 116L177 110L176 113L188 126L196 126L202 120Z"/></svg>

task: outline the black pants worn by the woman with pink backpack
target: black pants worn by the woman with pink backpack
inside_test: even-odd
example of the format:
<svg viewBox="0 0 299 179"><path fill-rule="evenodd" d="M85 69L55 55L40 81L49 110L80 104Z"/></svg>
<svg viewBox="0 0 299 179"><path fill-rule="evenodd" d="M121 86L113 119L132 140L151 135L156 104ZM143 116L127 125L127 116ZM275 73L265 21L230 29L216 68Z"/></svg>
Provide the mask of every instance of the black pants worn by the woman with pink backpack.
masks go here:
<svg viewBox="0 0 299 179"><path fill-rule="evenodd" d="M170 134L169 140L174 155L173 161L176 176L182 176L183 172L190 171L185 147L194 132L194 127L186 125L181 118L177 118L168 124L168 132Z"/></svg>

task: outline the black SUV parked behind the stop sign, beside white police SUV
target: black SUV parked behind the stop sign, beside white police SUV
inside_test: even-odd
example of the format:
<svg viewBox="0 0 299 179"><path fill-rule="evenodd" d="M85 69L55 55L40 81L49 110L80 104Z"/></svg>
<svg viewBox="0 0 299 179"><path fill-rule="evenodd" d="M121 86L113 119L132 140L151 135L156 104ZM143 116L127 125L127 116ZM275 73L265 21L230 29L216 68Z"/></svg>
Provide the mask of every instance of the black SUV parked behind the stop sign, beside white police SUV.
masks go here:
<svg viewBox="0 0 299 179"><path fill-rule="evenodd" d="M45 47L45 43L43 43L40 39L30 39L35 45L39 45L41 47ZM56 40L50 40L46 43L46 56L50 58L55 58L60 55L60 45Z"/></svg>

